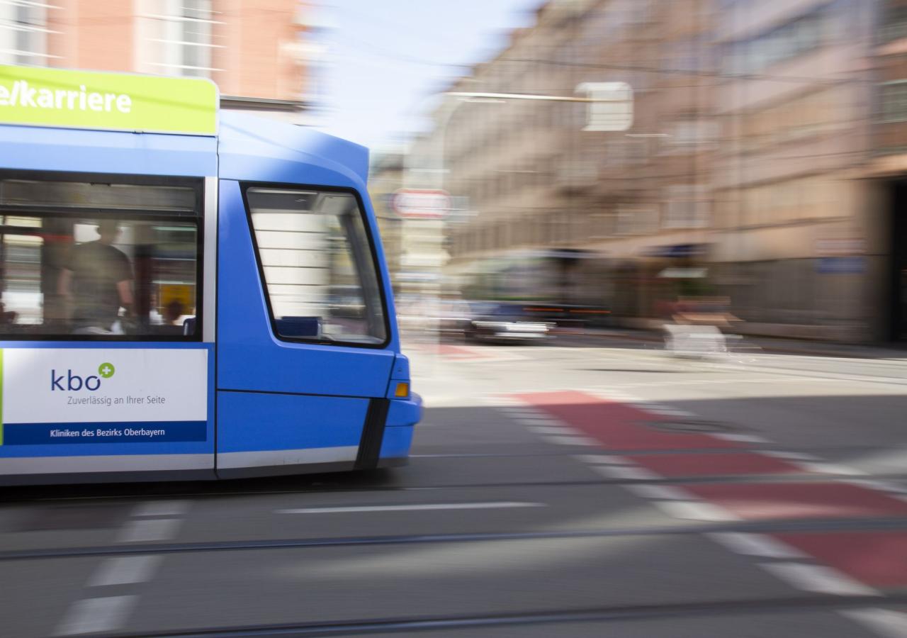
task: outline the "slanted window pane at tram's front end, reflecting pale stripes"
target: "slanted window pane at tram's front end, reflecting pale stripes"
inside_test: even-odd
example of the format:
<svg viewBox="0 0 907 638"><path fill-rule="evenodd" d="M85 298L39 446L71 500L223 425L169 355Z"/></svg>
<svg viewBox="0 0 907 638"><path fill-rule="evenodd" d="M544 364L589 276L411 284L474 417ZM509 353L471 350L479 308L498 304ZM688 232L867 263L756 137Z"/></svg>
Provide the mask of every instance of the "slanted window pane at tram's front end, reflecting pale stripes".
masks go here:
<svg viewBox="0 0 907 638"><path fill-rule="evenodd" d="M246 199L278 336L385 343L374 251L356 197L249 187Z"/></svg>

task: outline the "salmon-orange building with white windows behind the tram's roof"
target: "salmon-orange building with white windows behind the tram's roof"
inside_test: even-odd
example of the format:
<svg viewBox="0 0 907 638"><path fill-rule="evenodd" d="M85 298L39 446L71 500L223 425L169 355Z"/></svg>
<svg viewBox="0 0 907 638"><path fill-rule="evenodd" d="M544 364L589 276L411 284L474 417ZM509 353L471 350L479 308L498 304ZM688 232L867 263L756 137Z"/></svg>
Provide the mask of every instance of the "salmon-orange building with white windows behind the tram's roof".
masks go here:
<svg viewBox="0 0 907 638"><path fill-rule="evenodd" d="M225 108L300 119L300 0L0 0L0 64L207 77Z"/></svg>

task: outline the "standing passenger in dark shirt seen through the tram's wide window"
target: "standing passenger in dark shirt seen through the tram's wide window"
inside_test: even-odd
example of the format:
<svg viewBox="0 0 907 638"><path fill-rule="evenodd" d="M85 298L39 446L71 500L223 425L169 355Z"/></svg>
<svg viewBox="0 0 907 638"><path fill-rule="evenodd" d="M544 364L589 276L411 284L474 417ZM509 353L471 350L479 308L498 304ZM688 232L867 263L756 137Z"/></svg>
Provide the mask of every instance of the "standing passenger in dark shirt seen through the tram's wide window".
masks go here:
<svg viewBox="0 0 907 638"><path fill-rule="evenodd" d="M117 222L100 221L98 234L99 240L73 246L60 274L59 292L73 308L76 332L111 332L121 308L132 312L132 266L112 246L119 234Z"/></svg>

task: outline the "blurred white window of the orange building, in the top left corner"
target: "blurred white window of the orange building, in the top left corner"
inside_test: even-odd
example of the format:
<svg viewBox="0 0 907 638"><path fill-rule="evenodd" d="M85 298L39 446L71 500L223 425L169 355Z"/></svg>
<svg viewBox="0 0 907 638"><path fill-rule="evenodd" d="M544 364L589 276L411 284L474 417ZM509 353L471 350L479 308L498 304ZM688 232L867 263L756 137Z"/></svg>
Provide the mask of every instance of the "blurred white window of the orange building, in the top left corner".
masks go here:
<svg viewBox="0 0 907 638"><path fill-rule="evenodd" d="M47 6L0 0L0 64L46 64Z"/></svg>

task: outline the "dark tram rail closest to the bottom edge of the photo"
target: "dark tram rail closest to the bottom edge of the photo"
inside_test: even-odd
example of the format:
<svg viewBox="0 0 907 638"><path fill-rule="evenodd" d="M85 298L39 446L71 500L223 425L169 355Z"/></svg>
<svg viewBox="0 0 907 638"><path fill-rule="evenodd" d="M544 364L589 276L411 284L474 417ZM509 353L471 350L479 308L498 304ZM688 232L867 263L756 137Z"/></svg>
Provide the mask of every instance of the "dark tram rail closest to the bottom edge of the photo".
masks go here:
<svg viewBox="0 0 907 638"><path fill-rule="evenodd" d="M887 596L885 604L905 604L907 594ZM104 633L107 638L243 638L245 636L336 636L457 630L562 623L645 622L669 618L703 618L745 613L804 613L846 611L879 604L875 595L798 595L739 598L704 602L614 605L580 609L551 609L512 613L452 616L366 618L351 621L253 624L163 632Z"/></svg>

